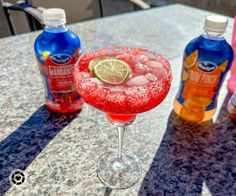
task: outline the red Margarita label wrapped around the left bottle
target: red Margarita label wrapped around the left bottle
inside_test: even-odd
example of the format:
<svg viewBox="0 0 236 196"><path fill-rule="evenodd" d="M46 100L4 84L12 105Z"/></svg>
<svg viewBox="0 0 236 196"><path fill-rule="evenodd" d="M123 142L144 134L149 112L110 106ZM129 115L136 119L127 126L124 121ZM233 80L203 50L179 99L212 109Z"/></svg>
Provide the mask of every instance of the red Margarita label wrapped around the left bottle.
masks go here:
<svg viewBox="0 0 236 196"><path fill-rule="evenodd" d="M80 56L77 48L73 55L59 53L50 54L43 51L38 66L45 86L46 98L62 103L72 103L80 99L73 82L74 65Z"/></svg>

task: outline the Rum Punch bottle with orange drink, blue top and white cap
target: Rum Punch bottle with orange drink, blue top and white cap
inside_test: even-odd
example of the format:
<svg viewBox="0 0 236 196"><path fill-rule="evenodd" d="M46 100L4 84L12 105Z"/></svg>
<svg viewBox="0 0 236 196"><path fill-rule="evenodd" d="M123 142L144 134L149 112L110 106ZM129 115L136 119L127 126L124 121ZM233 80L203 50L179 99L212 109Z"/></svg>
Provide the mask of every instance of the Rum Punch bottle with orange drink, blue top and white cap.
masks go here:
<svg viewBox="0 0 236 196"><path fill-rule="evenodd" d="M206 17L204 33L185 48L174 111L188 121L207 121L215 114L219 90L233 60L233 50L224 39L227 24L224 17Z"/></svg>

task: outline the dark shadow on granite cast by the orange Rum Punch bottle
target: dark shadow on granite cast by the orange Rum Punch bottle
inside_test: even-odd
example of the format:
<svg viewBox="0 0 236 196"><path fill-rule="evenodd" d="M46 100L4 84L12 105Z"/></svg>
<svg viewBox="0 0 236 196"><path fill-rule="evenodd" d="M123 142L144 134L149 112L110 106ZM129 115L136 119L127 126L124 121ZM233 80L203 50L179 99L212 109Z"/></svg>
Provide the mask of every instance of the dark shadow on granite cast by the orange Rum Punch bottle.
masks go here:
<svg viewBox="0 0 236 196"><path fill-rule="evenodd" d="M218 120L194 124L171 112L167 129L139 195L236 195L236 124L226 110Z"/></svg>

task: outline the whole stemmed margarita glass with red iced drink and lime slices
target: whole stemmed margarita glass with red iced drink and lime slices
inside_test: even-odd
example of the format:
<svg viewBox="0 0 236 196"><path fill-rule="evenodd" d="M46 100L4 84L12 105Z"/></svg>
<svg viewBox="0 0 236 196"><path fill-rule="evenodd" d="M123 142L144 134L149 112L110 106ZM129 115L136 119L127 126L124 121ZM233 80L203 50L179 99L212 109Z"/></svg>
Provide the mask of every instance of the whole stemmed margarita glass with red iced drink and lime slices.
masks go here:
<svg viewBox="0 0 236 196"><path fill-rule="evenodd" d="M74 70L77 91L118 130L118 153L108 152L98 162L98 177L107 186L128 188L138 182L138 161L122 153L124 131L137 114L163 101L171 80L168 61L146 49L108 47L80 57Z"/></svg>

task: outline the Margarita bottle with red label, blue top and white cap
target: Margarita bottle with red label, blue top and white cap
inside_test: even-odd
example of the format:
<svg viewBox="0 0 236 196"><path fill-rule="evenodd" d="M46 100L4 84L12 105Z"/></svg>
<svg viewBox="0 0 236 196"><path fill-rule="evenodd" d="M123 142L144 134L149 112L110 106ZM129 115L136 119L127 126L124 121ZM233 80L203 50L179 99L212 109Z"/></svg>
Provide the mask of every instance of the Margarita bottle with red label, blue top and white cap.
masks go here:
<svg viewBox="0 0 236 196"><path fill-rule="evenodd" d="M79 37L65 27L63 9L43 11L45 28L37 37L34 50L45 87L45 104L55 112L75 112L83 100L75 90L73 68L81 46Z"/></svg>

